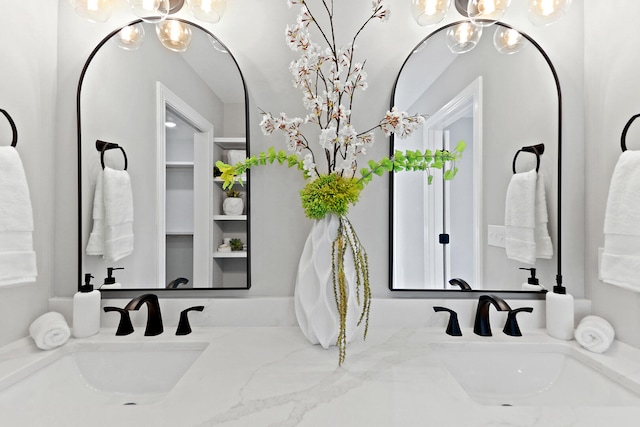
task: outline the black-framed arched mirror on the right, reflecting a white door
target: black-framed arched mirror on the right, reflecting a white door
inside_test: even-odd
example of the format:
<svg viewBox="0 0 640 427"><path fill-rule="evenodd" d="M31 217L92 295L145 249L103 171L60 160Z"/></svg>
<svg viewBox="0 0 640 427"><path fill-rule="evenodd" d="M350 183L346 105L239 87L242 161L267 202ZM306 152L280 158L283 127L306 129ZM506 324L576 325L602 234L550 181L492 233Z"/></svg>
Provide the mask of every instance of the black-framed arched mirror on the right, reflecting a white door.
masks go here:
<svg viewBox="0 0 640 427"><path fill-rule="evenodd" d="M484 27L470 49L469 43L456 44L461 25L466 22L425 38L394 87L392 105L423 114L426 122L422 132L393 139L392 150L453 149L460 140L467 148L452 181L436 175L426 185L421 172L392 176L390 288L460 291L449 281L461 278L473 290L532 291L542 288L523 286L531 276L523 269L534 268L539 283L551 289L560 275L561 250L557 74L528 35L496 23ZM505 47L504 37L518 44ZM526 172L538 159L543 181L537 182L543 182L545 194L535 208L547 212L548 222L540 228L549 239L547 251L540 253L538 244L534 261L525 263L505 247L514 230L505 217L506 195L514 165L516 172ZM543 221L544 215L536 218Z"/></svg>

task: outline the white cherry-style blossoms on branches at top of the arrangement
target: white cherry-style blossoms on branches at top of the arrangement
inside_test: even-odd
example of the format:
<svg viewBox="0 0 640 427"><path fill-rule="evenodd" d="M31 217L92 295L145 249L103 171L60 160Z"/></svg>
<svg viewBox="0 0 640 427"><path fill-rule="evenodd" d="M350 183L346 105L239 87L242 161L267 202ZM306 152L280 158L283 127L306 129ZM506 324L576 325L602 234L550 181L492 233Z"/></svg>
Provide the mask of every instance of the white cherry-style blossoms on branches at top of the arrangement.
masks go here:
<svg viewBox="0 0 640 427"><path fill-rule="evenodd" d="M301 125L317 126L317 138L324 151L318 158L327 159L327 173L352 174L355 172L358 156L364 156L367 148L373 145L372 131L375 128L380 127L386 136L395 133L403 138L414 132L424 122L424 118L419 115L410 116L394 107L387 111L375 128L358 134L351 125L354 98L356 91L367 89L368 82L364 70L366 61L357 61L355 56L357 34L348 43L334 45L337 40L334 42L336 34L332 15L328 15L330 25L321 28L320 22L326 20L316 21L315 13L319 13L322 8L315 9L312 14L305 0L287 0L287 4L289 7L300 5L296 23L286 27L285 39L287 45L299 54L289 64L289 71L293 76L293 86L303 92L302 102L308 113L304 118L291 119L284 113L276 117L265 113L260 128L265 135L276 129L284 132L287 148L298 154L305 153L305 175L314 178L318 169ZM389 19L389 10L385 8L383 0L372 0L371 6L371 14L364 25L374 19ZM311 27L314 29L311 30ZM322 44L312 41L311 33L317 34L317 29L321 29L327 36L326 39L321 38Z"/></svg>

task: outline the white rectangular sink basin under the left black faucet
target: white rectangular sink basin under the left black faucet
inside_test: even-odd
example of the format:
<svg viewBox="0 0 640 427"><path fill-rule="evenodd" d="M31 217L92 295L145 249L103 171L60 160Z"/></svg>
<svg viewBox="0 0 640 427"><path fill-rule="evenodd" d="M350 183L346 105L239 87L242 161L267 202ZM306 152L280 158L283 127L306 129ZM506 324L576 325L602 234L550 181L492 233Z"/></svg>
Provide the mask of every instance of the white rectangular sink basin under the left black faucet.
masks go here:
<svg viewBox="0 0 640 427"><path fill-rule="evenodd" d="M80 404L157 402L180 381L208 343L149 342L68 344L42 363L19 372L1 389L0 403L64 394Z"/></svg>

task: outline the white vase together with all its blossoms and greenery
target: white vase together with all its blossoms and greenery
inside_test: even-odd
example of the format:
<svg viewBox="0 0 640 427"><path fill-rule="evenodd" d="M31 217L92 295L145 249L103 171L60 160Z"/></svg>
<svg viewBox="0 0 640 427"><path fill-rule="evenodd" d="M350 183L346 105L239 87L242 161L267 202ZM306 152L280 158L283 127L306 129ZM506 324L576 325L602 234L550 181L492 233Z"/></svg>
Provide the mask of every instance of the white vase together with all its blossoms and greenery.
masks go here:
<svg viewBox="0 0 640 427"><path fill-rule="evenodd" d="M381 129L385 136L392 133L403 138L421 126L424 118L409 115L396 108L377 125L357 132L351 124L354 95L367 88L364 62L355 61L356 39L374 20L386 21L389 11L383 0L374 0L368 18L349 43L339 46L334 32L333 1L318 0L319 9L327 16L327 26L316 20L307 0L288 0L300 5L297 23L287 26L286 42L300 58L290 64L293 84L303 92L304 106L309 110L305 118L289 118L281 113L274 116L262 112L260 123L266 135L282 131L287 148L246 158L235 164L218 161L223 188L231 188L247 169L259 165L286 164L297 167L308 183L300 191L305 215L314 220L305 243L295 285L295 311L298 324L307 339L324 348L339 348L338 363L342 364L346 346L358 328L364 326L366 338L371 289L369 261L354 227L347 218L349 206L358 201L360 191L374 175L385 172L425 171L428 182L431 170L444 169L443 178L452 179L457 168L455 160L461 156L464 143L449 151L396 151L391 158L369 160L367 167L358 170L358 159L373 144L374 131ZM309 27L321 35L324 46L311 40ZM315 127L318 143L312 143L302 132L303 126ZM315 151L314 151L315 150ZM321 154L316 157L316 152ZM317 162L326 161L325 167Z"/></svg>

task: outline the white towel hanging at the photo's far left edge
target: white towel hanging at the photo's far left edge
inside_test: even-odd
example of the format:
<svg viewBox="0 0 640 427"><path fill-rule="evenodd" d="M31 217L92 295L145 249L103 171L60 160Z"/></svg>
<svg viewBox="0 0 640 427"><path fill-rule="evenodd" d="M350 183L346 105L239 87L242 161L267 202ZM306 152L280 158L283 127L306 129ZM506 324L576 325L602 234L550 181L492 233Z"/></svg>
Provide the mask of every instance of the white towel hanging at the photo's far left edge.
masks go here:
<svg viewBox="0 0 640 427"><path fill-rule="evenodd" d="M33 211L22 160L0 147L0 286L34 282Z"/></svg>

